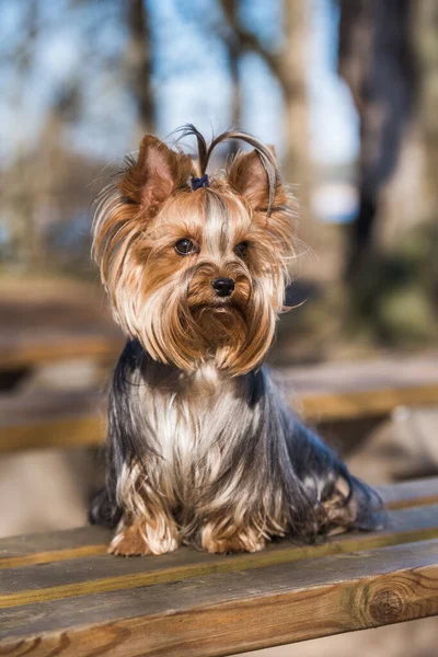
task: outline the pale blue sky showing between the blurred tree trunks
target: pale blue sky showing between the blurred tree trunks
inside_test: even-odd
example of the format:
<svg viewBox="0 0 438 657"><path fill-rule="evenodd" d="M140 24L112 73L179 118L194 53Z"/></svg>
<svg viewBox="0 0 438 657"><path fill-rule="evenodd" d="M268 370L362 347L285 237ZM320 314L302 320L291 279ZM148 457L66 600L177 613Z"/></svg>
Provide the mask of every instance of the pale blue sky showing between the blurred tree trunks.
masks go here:
<svg viewBox="0 0 438 657"><path fill-rule="evenodd" d="M154 89L161 136L192 122L207 135L230 127L231 87L226 51L219 38L199 28L198 16L215 20L214 0L148 0L151 9L157 67ZM25 3L1 4L0 25L8 38L19 34ZM84 30L93 14L89 3L69 9L68 0L41 2L46 36L41 39L25 88L18 88L4 64L1 69L5 101L0 106L3 157L35 139L45 107L74 71L87 77L84 118L67 131L70 145L92 150L104 160L135 148L132 112L112 71L94 76L83 61ZM50 8L50 11L48 11ZM266 43L281 43L280 0L244 0L243 16ZM356 113L346 87L336 76L337 13L333 0L309 1L311 31L308 44L311 150L316 162L336 165L351 161L358 151ZM203 14L204 12L204 14ZM65 18L68 20L65 20ZM124 34L117 21L97 22L91 31L93 46L122 57ZM0 35L1 36L1 35ZM247 55L241 65L244 99L242 127L283 151L281 95L266 66ZM4 96L3 96L4 97Z"/></svg>

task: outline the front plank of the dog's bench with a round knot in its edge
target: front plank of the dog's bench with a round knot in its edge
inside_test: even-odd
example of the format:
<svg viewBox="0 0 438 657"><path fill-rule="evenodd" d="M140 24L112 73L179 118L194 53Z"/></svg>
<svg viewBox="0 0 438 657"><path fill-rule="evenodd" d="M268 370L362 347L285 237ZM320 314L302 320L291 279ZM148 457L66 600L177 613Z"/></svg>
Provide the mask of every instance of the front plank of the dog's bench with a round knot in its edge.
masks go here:
<svg viewBox="0 0 438 657"><path fill-rule="evenodd" d="M438 540L1 612L1 654L217 657L438 613Z"/></svg>

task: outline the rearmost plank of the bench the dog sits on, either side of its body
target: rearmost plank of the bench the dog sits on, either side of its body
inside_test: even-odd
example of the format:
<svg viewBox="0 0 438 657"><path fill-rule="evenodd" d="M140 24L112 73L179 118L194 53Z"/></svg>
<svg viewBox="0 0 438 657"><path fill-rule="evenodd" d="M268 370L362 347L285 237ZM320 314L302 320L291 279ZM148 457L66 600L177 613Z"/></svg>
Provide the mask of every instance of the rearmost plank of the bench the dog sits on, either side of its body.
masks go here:
<svg viewBox="0 0 438 657"><path fill-rule="evenodd" d="M438 477L380 486L377 491L389 509L438 504ZM83 527L1 539L0 569L104 554L111 535L112 532L102 527Z"/></svg>

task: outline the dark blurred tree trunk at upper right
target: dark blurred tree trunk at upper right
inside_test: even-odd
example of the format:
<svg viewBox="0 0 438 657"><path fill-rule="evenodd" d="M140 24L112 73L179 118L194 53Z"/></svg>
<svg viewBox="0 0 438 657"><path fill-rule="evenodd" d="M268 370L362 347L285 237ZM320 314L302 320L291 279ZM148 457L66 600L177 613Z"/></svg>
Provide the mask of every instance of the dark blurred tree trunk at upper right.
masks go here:
<svg viewBox="0 0 438 657"><path fill-rule="evenodd" d="M359 211L349 233L349 278L377 247L379 203L396 168L413 110L416 66L412 0L339 3L339 72L360 117Z"/></svg>

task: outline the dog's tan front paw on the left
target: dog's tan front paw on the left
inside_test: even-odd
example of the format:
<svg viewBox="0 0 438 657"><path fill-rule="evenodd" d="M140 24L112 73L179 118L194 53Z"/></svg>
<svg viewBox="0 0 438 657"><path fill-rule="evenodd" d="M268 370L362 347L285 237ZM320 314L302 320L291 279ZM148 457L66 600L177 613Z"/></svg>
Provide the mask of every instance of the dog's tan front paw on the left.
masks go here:
<svg viewBox="0 0 438 657"><path fill-rule="evenodd" d="M108 553L117 556L146 556L148 554L165 554L178 546L171 529L164 535L158 535L152 528L136 522L118 531L112 540Z"/></svg>

